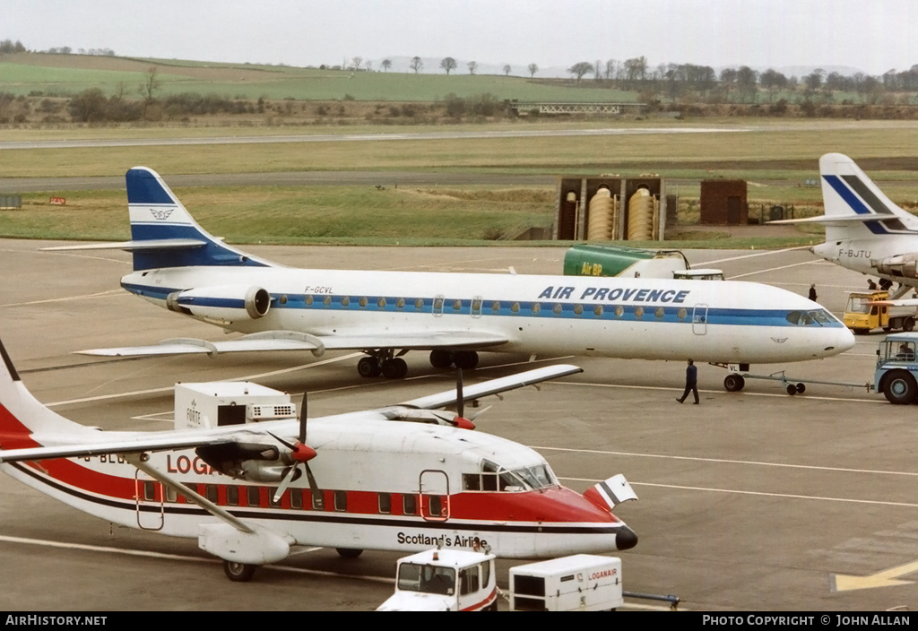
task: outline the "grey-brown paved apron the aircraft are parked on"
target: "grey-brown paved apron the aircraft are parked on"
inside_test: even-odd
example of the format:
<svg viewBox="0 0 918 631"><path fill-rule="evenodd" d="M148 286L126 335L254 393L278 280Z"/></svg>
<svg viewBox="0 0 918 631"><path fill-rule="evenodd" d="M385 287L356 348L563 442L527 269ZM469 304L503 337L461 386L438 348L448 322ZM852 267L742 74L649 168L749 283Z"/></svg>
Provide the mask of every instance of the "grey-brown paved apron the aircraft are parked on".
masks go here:
<svg viewBox="0 0 918 631"><path fill-rule="evenodd" d="M309 392L310 415L391 404L450 387L452 375L412 352L403 382L364 380L353 353L102 360L76 349L218 339L214 327L157 309L118 289L124 252L45 252L58 245L0 240L0 338L36 397L59 414L104 428L165 429L174 382L252 379ZM247 248L248 249L248 248ZM252 247L300 267L558 273L564 249ZM863 277L806 249L693 250L698 267L805 294L836 314ZM872 380L881 335L821 361L753 366L828 381ZM469 380L507 374L528 358L482 355ZM550 360L551 358L539 358ZM918 580L918 459L911 406L866 389L813 384L790 397L776 382L726 393L725 372L700 366L701 404L679 405L684 365L643 360L565 361L585 371L489 400L480 431L541 451L566 485L583 491L624 473L639 500L616 514L640 537L621 553L624 588L676 594L705 611L867 611L914 606ZM225 579L196 541L111 528L0 476L0 593L7 611L369 610L392 591L396 554L339 559L313 549ZM510 563L498 565L506 587ZM911 568L914 568L913 570ZM900 569L900 570L896 570ZM880 572L901 584L882 584ZM845 577L867 577L860 583ZM841 578L839 578L841 577ZM856 585L858 589L850 589ZM627 608L655 606L629 601Z"/></svg>

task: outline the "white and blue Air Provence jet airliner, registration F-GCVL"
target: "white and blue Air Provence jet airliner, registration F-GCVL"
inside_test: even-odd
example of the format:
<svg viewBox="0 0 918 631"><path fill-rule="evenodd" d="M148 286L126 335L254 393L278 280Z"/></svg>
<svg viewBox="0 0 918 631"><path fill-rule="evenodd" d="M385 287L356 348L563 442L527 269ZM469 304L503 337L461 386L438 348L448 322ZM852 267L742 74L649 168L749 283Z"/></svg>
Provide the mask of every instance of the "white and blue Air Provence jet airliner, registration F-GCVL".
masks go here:
<svg viewBox="0 0 918 631"><path fill-rule="evenodd" d="M198 226L156 173L127 174L130 293L245 337L91 349L138 356L359 349L364 377L404 377L409 350L474 368L477 351L723 365L821 359L854 346L819 304L754 282L517 274L301 270L254 257Z"/></svg>

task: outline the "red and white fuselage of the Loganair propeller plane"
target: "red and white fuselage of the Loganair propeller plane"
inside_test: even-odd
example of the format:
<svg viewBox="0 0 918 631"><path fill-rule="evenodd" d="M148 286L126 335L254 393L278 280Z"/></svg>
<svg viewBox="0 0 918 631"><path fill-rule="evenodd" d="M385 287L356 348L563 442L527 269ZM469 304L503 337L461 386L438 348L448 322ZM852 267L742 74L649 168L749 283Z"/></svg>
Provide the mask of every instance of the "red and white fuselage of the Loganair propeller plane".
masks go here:
<svg viewBox="0 0 918 631"><path fill-rule="evenodd" d="M276 445L267 432L289 437L296 434L297 423L269 421L224 429L250 432L245 442ZM154 452L148 464L246 524L294 545L413 552L437 545L472 549L487 544L500 557L542 558L608 552L621 548L622 541L630 542L626 548L636 542L633 532L609 511L560 486L535 451L509 440L450 426L386 420L378 412L310 420L308 432L309 444L319 454L310 467L320 501L304 475L274 503L275 486L225 476L194 450ZM105 433L112 439L137 434ZM68 444L74 437L62 435L60 440ZM198 537L203 525L219 523L218 517L166 493L162 484L117 456L0 467L65 504L124 526ZM548 482L536 489L512 473L500 476L498 470L539 470ZM508 480L517 482L508 486Z"/></svg>

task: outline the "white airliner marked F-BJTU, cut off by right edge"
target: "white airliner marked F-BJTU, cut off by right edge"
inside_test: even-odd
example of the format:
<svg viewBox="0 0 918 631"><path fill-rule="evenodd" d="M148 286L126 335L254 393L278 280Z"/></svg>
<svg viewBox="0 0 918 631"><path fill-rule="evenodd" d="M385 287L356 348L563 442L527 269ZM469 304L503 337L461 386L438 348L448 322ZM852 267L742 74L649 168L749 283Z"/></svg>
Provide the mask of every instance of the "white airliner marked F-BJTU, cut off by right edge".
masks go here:
<svg viewBox="0 0 918 631"><path fill-rule="evenodd" d="M905 293L918 287L918 217L893 204L841 153L819 159L825 214L773 224L825 225L825 242L813 254L849 270L900 282Z"/></svg>

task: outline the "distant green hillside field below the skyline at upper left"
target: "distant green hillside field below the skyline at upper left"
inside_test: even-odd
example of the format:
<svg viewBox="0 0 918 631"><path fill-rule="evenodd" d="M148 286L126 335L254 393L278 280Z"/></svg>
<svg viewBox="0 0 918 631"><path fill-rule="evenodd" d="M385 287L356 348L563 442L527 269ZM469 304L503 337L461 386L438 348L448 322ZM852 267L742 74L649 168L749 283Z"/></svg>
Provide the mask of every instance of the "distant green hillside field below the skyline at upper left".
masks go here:
<svg viewBox="0 0 918 631"><path fill-rule="evenodd" d="M159 90L166 96L183 92L220 94L229 98L297 99L308 101L440 101L447 94L462 97L494 94L520 101L633 102L637 94L610 89L577 89L560 83L533 82L493 74L351 72L260 66L202 64L177 60L129 60L91 55L19 53L0 61L0 85L11 94L72 95L87 88L106 94L138 88L156 68Z"/></svg>

